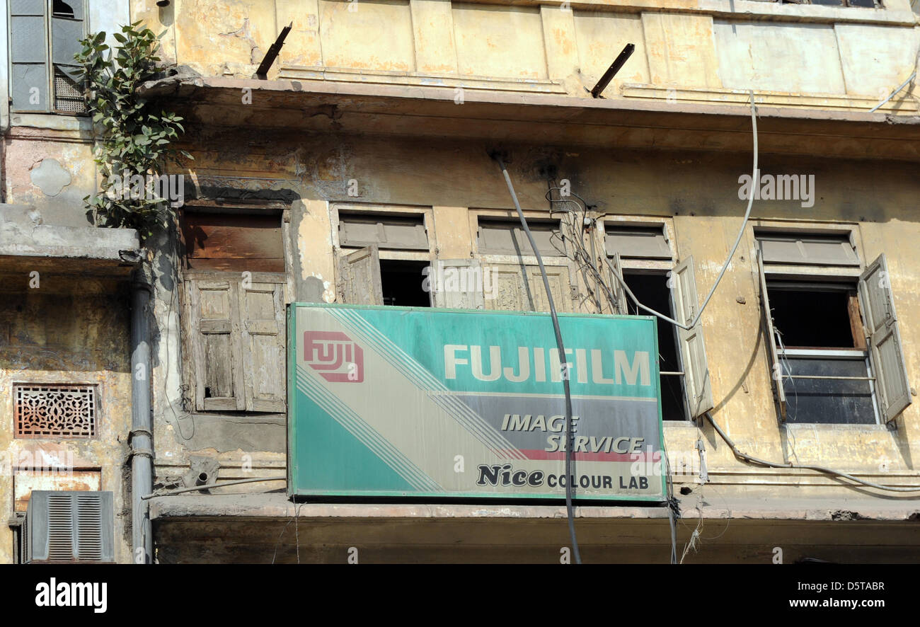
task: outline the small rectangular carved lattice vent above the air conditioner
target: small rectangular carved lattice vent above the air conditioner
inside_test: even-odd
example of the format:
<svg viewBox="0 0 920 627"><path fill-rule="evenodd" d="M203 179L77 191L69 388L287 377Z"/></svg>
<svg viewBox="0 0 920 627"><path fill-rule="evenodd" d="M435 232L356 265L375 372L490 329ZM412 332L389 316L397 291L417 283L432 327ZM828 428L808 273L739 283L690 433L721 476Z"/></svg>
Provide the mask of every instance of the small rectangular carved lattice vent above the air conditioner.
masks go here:
<svg viewBox="0 0 920 627"><path fill-rule="evenodd" d="M96 435L93 385L14 386L17 438L92 438Z"/></svg>

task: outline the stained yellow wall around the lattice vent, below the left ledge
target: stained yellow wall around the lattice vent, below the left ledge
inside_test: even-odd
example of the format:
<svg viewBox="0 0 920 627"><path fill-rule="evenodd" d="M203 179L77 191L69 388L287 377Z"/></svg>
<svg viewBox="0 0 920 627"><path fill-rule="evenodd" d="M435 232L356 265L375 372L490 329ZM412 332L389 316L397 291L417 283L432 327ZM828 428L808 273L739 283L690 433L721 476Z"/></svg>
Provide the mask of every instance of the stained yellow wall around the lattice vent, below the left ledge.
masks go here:
<svg viewBox="0 0 920 627"><path fill-rule="evenodd" d="M73 482L42 475L46 489L72 489L80 477L101 476L114 494L115 557L130 563L131 339L127 288L111 279L40 273L29 288L28 267L0 274L0 518L13 515L14 473L36 460L57 459L85 469ZM98 435L92 439L14 438L14 383L84 383L97 386ZM23 464L22 462L25 463ZM86 484L88 485L88 484ZM10 564L13 536L0 526L0 564Z"/></svg>

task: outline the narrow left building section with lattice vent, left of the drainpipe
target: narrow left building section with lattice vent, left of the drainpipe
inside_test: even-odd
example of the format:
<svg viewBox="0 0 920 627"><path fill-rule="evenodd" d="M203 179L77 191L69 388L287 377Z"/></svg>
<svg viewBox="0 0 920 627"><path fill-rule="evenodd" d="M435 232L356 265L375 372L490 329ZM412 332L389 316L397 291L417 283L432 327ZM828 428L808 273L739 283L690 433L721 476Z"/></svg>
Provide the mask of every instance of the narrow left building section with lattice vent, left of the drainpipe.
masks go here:
<svg viewBox="0 0 920 627"><path fill-rule="evenodd" d="M25 558L33 490L112 493L112 542L82 554L132 560L129 321L140 243L133 230L86 219L83 198L98 189L93 133L70 78L78 40L128 15L126 2L43 0L5 3L0 15L4 564Z"/></svg>

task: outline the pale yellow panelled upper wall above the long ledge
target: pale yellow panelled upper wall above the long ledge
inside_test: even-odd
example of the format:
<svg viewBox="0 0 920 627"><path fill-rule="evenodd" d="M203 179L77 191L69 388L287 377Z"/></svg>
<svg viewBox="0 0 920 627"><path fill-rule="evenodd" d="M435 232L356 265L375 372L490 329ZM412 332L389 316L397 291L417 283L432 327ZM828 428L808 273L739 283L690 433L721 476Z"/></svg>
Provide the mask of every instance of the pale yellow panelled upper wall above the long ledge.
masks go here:
<svg viewBox="0 0 920 627"><path fill-rule="evenodd" d="M290 23L269 78L570 97L590 97L633 43L636 52L604 97L718 103L754 89L765 103L861 110L914 72L920 48L907 0L887 2L884 10L753 0L588 0L574 8L451 0L132 4L132 18L165 32L164 59L205 75L249 78ZM911 89L882 110L915 114Z"/></svg>

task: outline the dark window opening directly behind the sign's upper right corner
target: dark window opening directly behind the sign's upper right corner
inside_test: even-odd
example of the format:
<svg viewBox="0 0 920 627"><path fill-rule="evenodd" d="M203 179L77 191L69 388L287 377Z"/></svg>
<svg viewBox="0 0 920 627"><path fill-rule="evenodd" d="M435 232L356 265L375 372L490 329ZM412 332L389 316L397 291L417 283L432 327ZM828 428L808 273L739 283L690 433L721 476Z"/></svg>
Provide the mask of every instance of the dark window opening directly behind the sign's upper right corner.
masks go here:
<svg viewBox="0 0 920 627"><path fill-rule="evenodd" d="M668 278L664 274L643 274L624 272L629 289L636 294L638 302L647 305L662 314L668 313L673 317L671 304L671 289L668 288ZM628 302L630 315L647 315L638 311L631 300ZM658 321L658 363L662 372L682 371L681 360L678 357L677 334L674 326ZM686 420L684 409L684 385L681 375L661 375L661 418L663 420Z"/></svg>

